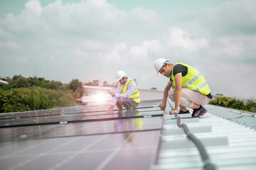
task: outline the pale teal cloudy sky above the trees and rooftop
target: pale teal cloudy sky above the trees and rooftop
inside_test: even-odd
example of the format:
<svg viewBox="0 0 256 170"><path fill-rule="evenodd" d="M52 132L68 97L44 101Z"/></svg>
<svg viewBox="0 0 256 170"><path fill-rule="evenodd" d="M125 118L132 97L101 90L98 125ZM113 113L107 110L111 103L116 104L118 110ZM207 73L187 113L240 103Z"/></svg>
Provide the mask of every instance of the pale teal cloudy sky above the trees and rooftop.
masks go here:
<svg viewBox="0 0 256 170"><path fill-rule="evenodd" d="M213 94L256 96L254 0L1 0L0 77L164 90L154 60L196 67Z"/></svg>

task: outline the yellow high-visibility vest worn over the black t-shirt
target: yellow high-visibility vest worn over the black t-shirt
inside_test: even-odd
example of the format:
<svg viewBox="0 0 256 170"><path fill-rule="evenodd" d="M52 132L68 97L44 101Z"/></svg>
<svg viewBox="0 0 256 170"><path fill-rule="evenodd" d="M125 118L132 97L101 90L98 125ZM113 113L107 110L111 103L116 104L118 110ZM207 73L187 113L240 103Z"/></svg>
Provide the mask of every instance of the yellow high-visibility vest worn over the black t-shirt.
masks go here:
<svg viewBox="0 0 256 170"><path fill-rule="evenodd" d="M206 79L203 77L202 74L198 72L197 69L183 63L176 63L176 64L182 64L183 66L188 67L188 73L186 76L181 78L181 87L191 89L194 91L199 91L199 93L208 95L210 94L210 88L206 82ZM176 65L174 64L174 66ZM173 85L175 87L175 79L174 79L174 67L171 70L171 79L173 80Z"/></svg>

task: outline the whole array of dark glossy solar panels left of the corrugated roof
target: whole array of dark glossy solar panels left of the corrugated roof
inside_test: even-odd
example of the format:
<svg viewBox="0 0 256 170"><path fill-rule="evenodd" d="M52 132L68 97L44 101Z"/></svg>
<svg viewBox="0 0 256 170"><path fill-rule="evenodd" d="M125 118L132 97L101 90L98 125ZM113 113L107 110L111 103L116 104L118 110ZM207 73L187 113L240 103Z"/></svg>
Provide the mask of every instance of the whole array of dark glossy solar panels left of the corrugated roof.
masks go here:
<svg viewBox="0 0 256 170"><path fill-rule="evenodd" d="M1 114L1 169L149 169L163 112L77 106ZM138 159L139 158L139 159Z"/></svg>

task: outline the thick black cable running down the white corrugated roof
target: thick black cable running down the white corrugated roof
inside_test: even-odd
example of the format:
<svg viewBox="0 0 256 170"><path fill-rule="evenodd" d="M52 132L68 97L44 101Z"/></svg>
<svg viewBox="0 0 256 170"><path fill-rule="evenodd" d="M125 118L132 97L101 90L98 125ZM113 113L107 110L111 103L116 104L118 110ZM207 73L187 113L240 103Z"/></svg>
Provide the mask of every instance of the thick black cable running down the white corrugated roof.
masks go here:
<svg viewBox="0 0 256 170"><path fill-rule="evenodd" d="M208 156L205 147L203 144L194 136L191 132L188 130L188 126L186 124L181 124L181 117L178 116L178 113L174 113L175 118L177 119L177 125L179 128L183 128L183 131L185 132L186 136L188 137L188 140L191 140L196 147L198 148L198 151L200 152L201 159L203 160L203 169L207 170L215 170L215 166L210 163L210 157Z"/></svg>

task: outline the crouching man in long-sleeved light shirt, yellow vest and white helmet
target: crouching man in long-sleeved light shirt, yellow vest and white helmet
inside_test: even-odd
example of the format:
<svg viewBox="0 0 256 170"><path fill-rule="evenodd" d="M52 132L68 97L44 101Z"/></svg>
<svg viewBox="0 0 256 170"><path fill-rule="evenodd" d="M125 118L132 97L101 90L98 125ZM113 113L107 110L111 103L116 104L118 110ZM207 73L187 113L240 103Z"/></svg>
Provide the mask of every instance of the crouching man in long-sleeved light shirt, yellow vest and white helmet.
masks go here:
<svg viewBox="0 0 256 170"><path fill-rule="evenodd" d="M115 105L119 111L122 111L122 106L127 110L134 110L140 102L137 83L133 79L129 79L127 74L121 70L117 72L116 79L119 84L115 92L110 92L113 99L107 112L112 111Z"/></svg>

